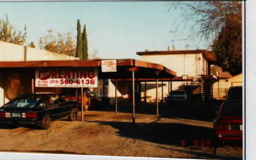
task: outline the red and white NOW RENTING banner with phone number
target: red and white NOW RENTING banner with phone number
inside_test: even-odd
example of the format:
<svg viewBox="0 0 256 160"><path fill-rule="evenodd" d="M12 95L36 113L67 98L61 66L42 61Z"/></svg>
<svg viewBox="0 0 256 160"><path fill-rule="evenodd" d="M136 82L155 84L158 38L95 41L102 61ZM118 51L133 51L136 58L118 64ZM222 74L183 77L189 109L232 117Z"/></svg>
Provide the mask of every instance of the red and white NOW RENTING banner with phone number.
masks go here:
<svg viewBox="0 0 256 160"><path fill-rule="evenodd" d="M98 87L98 68L37 68L35 87Z"/></svg>

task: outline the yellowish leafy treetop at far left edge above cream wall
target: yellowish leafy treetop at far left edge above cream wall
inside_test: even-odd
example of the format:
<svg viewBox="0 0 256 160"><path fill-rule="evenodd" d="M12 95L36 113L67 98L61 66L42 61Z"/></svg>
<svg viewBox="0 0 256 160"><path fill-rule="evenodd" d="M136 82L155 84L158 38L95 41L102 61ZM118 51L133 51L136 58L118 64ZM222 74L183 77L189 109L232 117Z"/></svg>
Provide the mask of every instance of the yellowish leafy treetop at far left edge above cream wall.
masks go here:
<svg viewBox="0 0 256 160"><path fill-rule="evenodd" d="M6 20L0 20L0 41L23 45L26 42L26 25L24 33L17 32L6 15Z"/></svg>

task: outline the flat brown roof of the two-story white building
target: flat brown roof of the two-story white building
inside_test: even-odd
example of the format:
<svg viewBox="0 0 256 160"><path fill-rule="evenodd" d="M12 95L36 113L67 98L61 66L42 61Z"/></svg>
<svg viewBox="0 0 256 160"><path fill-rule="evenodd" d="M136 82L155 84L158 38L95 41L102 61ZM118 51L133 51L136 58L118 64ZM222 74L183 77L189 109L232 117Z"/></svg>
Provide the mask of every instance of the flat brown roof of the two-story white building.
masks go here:
<svg viewBox="0 0 256 160"><path fill-rule="evenodd" d="M196 54L202 53L207 61L217 61L214 52L205 49L196 50L167 50L167 51L143 51L137 52L137 55L176 55L176 54Z"/></svg>

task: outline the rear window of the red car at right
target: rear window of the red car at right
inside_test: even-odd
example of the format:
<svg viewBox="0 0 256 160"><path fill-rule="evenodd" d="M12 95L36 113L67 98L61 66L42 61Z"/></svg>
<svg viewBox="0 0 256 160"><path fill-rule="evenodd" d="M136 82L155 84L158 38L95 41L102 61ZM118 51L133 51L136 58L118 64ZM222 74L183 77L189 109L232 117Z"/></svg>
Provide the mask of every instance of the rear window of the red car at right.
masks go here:
<svg viewBox="0 0 256 160"><path fill-rule="evenodd" d="M221 116L242 116L242 103L226 103L224 104Z"/></svg>

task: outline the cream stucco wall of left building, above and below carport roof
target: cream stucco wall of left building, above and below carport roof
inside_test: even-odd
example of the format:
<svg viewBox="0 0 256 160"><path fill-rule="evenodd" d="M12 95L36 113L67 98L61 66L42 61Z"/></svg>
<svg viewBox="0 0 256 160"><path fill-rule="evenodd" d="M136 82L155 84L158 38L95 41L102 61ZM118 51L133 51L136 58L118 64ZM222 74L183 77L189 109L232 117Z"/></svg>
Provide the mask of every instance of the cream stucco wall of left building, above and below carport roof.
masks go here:
<svg viewBox="0 0 256 160"><path fill-rule="evenodd" d="M11 44L7 42L0 41L0 61L43 61L43 60L75 60L78 59L73 56L68 55L60 55L58 53L48 52L41 49L25 47L17 44ZM31 75L31 74L29 74ZM23 79L24 76L26 79ZM15 78L14 78L15 77ZM22 78L23 77L23 78ZM22 92L27 93L28 91L31 92L31 83L32 77L26 76L26 73L20 72L12 72L12 74L6 74L3 70L0 70L0 106L4 104L4 102L8 102L9 99L6 97L4 98L4 90L8 89L9 83L7 80L14 81L15 85L21 89ZM13 85L10 85L13 86ZM12 89L8 89L12 90ZM37 92L55 92L58 89L52 88L35 88ZM21 92L20 91L20 92ZM16 90L13 90L13 95L16 95ZM20 94L17 93L17 94Z"/></svg>

